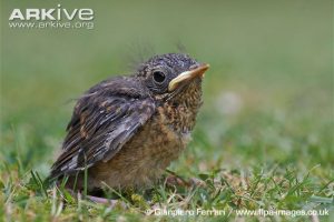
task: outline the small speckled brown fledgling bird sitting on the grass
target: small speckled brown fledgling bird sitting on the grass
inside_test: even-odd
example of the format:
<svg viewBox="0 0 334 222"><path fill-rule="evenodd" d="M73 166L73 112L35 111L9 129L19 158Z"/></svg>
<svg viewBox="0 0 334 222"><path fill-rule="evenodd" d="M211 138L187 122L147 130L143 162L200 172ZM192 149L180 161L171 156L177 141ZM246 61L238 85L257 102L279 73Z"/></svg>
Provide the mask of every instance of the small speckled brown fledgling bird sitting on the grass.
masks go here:
<svg viewBox="0 0 334 222"><path fill-rule="evenodd" d="M187 54L155 56L129 77L90 88L75 107L51 179L88 190L147 188L187 147L203 103L208 64Z"/></svg>

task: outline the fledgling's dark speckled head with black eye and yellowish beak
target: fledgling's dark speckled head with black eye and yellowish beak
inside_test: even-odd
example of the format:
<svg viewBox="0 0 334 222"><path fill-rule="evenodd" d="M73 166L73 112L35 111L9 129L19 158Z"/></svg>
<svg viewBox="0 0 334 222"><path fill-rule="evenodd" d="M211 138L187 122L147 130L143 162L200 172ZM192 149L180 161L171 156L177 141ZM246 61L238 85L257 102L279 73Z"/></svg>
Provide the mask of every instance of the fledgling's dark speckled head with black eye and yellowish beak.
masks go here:
<svg viewBox="0 0 334 222"><path fill-rule="evenodd" d="M144 62L137 77L156 100L179 103L189 99L200 100L202 79L208 68L208 64L199 63L187 54L168 53Z"/></svg>

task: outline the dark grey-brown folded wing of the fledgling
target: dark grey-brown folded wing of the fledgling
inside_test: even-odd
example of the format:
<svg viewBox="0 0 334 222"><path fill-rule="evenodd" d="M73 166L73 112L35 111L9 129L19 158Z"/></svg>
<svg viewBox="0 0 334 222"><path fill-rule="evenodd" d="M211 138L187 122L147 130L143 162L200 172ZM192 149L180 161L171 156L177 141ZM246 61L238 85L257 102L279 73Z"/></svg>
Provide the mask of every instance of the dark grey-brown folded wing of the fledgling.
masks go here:
<svg viewBox="0 0 334 222"><path fill-rule="evenodd" d="M62 153L51 176L72 174L110 160L155 112L149 97L129 84L111 82L108 89L90 90L77 103L67 128Z"/></svg>

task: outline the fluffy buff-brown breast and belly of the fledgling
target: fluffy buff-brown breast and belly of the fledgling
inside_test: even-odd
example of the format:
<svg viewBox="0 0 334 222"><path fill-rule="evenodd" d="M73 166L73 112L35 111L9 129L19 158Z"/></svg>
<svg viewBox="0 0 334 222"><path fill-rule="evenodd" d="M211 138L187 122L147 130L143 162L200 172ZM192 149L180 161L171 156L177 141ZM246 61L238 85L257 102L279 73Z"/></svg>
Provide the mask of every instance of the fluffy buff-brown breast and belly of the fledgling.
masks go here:
<svg viewBox="0 0 334 222"><path fill-rule="evenodd" d="M111 188L151 185L186 148L195 124L194 117L184 121L187 128L176 131L173 123L179 122L176 117L185 117L179 113L185 110L170 109L158 108L157 114L111 160L92 167L89 172L95 174L89 174L89 185L98 188L101 182Z"/></svg>

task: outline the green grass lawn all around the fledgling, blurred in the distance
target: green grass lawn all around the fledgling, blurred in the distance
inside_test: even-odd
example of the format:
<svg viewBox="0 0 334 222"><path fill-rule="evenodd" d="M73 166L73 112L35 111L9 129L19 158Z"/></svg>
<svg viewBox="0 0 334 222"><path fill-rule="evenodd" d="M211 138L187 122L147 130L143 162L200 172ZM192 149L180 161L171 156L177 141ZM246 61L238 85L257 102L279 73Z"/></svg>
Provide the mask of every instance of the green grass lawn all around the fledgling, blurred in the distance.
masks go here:
<svg viewBox="0 0 334 222"><path fill-rule="evenodd" d="M327 209L330 216L318 219L334 220L332 1L61 3L92 8L94 30L9 29L13 8L56 4L1 3L3 220L175 220L153 215L155 208L226 212L181 221L262 220L236 215L246 209ZM68 101L110 74L129 73L129 58L145 48L173 52L177 42L212 68L193 142L169 169L205 185L161 183L121 196L126 210L45 185L71 114Z"/></svg>

